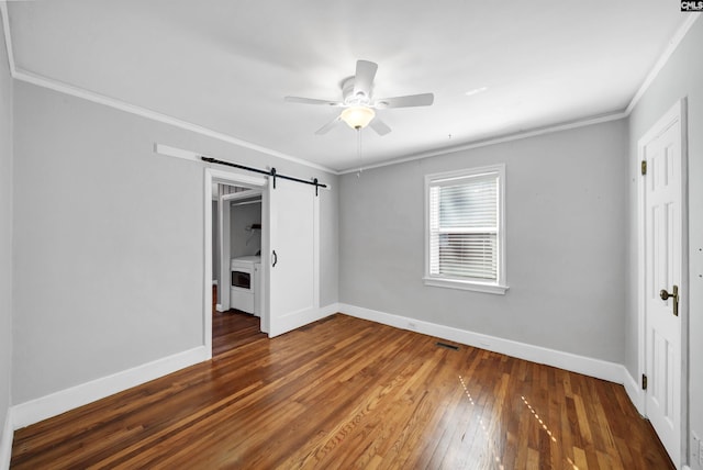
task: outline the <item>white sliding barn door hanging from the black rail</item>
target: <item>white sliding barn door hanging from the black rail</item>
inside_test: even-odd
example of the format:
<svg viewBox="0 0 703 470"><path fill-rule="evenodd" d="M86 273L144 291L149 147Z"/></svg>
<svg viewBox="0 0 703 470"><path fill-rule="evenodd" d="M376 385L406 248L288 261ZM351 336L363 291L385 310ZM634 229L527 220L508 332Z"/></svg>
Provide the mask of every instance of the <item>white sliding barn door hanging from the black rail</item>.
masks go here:
<svg viewBox="0 0 703 470"><path fill-rule="evenodd" d="M268 335L298 328L320 307L319 198L315 189L269 180Z"/></svg>

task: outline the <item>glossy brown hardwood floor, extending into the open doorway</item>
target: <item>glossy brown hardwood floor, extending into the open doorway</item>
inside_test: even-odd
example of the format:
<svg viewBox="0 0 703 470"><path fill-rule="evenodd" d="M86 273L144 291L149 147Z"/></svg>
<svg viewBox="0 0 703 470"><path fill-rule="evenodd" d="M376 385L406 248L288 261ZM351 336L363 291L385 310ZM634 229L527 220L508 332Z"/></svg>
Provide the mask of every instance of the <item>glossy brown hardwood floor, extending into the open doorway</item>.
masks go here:
<svg viewBox="0 0 703 470"><path fill-rule="evenodd" d="M12 468L673 468L621 385L343 314L213 325L212 361L16 430Z"/></svg>

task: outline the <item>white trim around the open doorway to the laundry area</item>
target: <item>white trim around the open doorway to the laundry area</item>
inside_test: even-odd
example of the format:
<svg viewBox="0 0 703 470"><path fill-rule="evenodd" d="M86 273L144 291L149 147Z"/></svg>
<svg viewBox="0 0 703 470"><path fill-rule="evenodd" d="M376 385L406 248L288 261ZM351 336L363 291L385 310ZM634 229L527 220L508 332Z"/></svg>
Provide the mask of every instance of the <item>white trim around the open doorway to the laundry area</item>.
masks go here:
<svg viewBox="0 0 703 470"><path fill-rule="evenodd" d="M267 186L265 177L243 175L236 171L220 170L215 168L204 169L203 186L203 208L204 208L204 250L203 250L203 345L205 346L207 358L212 359L212 183L224 183L231 186L244 186L258 188L261 191ZM261 237L268 236L268 227L261 227ZM228 269L228 264L227 264ZM261 264L261 269L268 267ZM265 272L263 273L265 275ZM224 282L223 282L224 283ZM222 287L221 287L222 289Z"/></svg>

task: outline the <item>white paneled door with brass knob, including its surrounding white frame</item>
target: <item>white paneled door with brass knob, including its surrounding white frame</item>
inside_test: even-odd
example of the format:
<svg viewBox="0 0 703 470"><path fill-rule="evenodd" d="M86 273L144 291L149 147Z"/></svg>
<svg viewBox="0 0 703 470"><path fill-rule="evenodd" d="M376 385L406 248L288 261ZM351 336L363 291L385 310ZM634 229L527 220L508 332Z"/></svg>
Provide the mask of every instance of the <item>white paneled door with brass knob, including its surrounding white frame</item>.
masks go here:
<svg viewBox="0 0 703 470"><path fill-rule="evenodd" d="M639 141L638 322L644 414L677 468L687 460L685 101Z"/></svg>

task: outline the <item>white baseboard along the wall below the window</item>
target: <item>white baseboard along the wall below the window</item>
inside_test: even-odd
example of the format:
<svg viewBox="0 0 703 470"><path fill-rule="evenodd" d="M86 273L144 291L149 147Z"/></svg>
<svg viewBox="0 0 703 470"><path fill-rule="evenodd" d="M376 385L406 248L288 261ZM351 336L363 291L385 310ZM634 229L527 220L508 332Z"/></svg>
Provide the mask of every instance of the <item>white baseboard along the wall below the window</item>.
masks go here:
<svg viewBox="0 0 703 470"><path fill-rule="evenodd" d="M583 373L610 382L624 382L624 367L620 363L498 338L495 336L482 335L466 329L458 329L345 303L339 304L339 311L358 318L370 320L371 322L395 326L397 328L423 333L520 359L558 367L559 369Z"/></svg>

